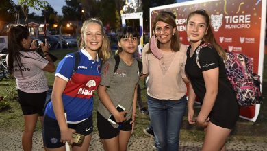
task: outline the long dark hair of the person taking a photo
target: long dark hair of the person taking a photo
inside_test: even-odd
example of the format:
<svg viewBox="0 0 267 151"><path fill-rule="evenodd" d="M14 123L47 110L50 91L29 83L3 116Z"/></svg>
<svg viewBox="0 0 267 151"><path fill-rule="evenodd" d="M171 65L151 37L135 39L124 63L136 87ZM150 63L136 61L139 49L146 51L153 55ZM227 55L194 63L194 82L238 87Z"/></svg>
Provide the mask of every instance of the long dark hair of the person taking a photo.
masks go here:
<svg viewBox="0 0 267 151"><path fill-rule="evenodd" d="M30 51L29 49L23 48L21 41L27 39L29 36L29 30L27 27L17 25L10 27L8 31L8 70L10 74L13 73L14 62L17 62L21 68L21 53L19 51Z"/></svg>

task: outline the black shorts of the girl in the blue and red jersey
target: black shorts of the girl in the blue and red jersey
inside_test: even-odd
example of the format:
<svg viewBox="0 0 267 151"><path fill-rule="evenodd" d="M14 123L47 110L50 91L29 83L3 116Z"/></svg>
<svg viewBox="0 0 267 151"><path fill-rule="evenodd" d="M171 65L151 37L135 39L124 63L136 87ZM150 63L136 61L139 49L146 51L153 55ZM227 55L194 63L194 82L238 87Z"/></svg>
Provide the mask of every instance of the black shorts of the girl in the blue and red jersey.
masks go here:
<svg viewBox="0 0 267 151"><path fill-rule="evenodd" d="M73 128L77 133L84 136L90 135L93 130L92 116L79 124L68 124L68 128ZM58 126L58 121L47 115L44 115L42 137L44 146L47 148L60 148L65 145L60 142L60 127Z"/></svg>

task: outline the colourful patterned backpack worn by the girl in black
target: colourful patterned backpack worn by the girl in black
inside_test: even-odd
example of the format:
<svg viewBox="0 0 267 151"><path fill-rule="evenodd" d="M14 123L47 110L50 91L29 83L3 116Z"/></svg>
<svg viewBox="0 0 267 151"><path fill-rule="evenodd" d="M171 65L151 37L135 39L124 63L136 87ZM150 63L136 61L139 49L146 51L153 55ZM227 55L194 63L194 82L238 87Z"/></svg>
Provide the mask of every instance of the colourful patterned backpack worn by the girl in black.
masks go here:
<svg viewBox="0 0 267 151"><path fill-rule="evenodd" d="M212 45L206 44L208 47ZM205 47L205 45L203 45ZM196 64L199 66L199 51L196 49ZM260 77L253 73L253 62L244 54L226 52L225 69L229 82L236 92L236 99L240 106L253 106L262 104L262 93L260 91Z"/></svg>

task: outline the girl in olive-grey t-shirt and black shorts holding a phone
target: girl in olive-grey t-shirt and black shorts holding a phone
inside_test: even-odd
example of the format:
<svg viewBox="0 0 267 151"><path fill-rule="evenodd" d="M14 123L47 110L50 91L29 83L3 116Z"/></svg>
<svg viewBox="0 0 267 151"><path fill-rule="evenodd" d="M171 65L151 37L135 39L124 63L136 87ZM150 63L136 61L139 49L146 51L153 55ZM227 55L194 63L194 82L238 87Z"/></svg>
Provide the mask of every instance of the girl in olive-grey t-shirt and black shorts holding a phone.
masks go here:
<svg viewBox="0 0 267 151"><path fill-rule="evenodd" d="M139 35L133 27L121 27L117 38L120 59L118 69L114 70L114 57L107 60L97 89L101 100L97 108L97 128L105 150L127 150L136 120L140 73L133 53L137 49ZM119 112L116 108L118 105L125 108L125 111ZM114 116L116 124L109 121L110 115Z"/></svg>

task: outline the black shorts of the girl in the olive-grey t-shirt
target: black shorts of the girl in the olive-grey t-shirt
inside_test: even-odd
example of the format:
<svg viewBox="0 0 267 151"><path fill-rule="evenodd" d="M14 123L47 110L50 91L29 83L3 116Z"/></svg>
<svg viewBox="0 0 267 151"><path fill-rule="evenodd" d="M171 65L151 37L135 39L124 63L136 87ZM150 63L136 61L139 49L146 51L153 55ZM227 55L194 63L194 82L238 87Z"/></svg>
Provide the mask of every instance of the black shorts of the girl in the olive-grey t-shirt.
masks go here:
<svg viewBox="0 0 267 151"><path fill-rule="evenodd" d="M114 128L110 121L107 121L99 112L97 112L97 129L99 130L100 139L111 139L118 136L120 130L131 131L131 119L120 124L118 128Z"/></svg>

